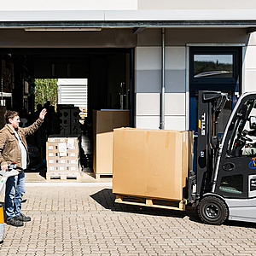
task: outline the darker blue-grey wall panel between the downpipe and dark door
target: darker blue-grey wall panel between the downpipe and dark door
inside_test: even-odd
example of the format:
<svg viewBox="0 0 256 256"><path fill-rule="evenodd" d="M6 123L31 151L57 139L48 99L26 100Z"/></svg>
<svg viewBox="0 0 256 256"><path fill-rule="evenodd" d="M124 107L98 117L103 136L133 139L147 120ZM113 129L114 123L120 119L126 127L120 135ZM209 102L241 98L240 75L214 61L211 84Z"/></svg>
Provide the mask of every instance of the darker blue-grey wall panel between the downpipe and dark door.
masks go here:
<svg viewBox="0 0 256 256"><path fill-rule="evenodd" d="M166 92L185 92L185 75L185 70L166 70Z"/></svg>

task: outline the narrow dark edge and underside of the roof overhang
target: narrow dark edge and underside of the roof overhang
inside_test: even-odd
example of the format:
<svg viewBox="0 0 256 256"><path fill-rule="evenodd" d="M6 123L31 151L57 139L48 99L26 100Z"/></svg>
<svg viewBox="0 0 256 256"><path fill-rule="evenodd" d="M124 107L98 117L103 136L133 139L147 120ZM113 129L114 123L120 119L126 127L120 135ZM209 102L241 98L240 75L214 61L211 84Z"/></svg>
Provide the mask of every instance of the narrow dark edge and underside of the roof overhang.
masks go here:
<svg viewBox="0 0 256 256"><path fill-rule="evenodd" d="M27 31L66 30L100 31L102 28L158 28L158 27L225 27L247 28L256 31L256 20L85 20L85 21L0 21L0 28L22 28ZM65 29L64 29L65 30Z"/></svg>

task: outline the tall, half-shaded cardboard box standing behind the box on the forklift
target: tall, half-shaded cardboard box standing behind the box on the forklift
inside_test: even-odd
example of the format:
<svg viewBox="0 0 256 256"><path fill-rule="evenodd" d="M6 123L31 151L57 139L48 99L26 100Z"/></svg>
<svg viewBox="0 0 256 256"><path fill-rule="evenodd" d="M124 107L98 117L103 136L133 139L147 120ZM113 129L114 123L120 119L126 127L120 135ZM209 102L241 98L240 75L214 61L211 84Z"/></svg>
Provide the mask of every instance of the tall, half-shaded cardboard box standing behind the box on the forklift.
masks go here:
<svg viewBox="0 0 256 256"><path fill-rule="evenodd" d="M93 169L96 175L113 173L113 129L130 126L129 110L93 111Z"/></svg>

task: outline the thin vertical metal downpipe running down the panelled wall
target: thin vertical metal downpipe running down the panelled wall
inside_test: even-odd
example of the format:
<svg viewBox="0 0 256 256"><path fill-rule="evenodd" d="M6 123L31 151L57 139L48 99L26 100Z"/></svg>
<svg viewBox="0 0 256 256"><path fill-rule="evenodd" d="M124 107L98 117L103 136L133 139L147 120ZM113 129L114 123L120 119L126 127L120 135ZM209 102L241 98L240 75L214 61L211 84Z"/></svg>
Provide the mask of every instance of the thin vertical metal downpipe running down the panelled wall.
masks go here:
<svg viewBox="0 0 256 256"><path fill-rule="evenodd" d="M162 32L161 32L161 36L162 36L162 69L161 69L161 82L162 82L162 86L161 86L161 107L160 107L160 129L165 129L165 93L166 93L166 87L165 87L165 36L166 36L166 31L165 28L162 27Z"/></svg>

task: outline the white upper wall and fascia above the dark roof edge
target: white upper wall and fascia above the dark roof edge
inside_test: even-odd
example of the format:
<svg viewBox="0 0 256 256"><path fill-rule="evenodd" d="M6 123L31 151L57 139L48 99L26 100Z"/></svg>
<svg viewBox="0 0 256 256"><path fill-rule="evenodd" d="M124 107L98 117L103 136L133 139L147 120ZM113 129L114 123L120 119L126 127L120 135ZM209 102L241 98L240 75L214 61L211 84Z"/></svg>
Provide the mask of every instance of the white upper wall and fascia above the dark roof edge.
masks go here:
<svg viewBox="0 0 256 256"><path fill-rule="evenodd" d="M0 20L255 20L255 9L249 0L2 0Z"/></svg>

